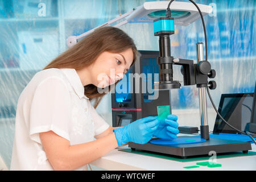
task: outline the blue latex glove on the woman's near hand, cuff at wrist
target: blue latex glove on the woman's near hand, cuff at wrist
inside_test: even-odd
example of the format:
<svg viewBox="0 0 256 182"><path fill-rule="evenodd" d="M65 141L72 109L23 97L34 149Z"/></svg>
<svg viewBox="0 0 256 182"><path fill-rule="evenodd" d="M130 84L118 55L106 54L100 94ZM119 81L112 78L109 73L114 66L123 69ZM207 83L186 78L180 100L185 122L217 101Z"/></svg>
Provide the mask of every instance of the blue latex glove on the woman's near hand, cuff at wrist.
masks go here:
<svg viewBox="0 0 256 182"><path fill-rule="evenodd" d="M158 128L160 120L158 117L146 117L138 119L129 125L114 129L115 138L118 146L122 146L127 142L139 144L147 143L152 137L155 130Z"/></svg>

